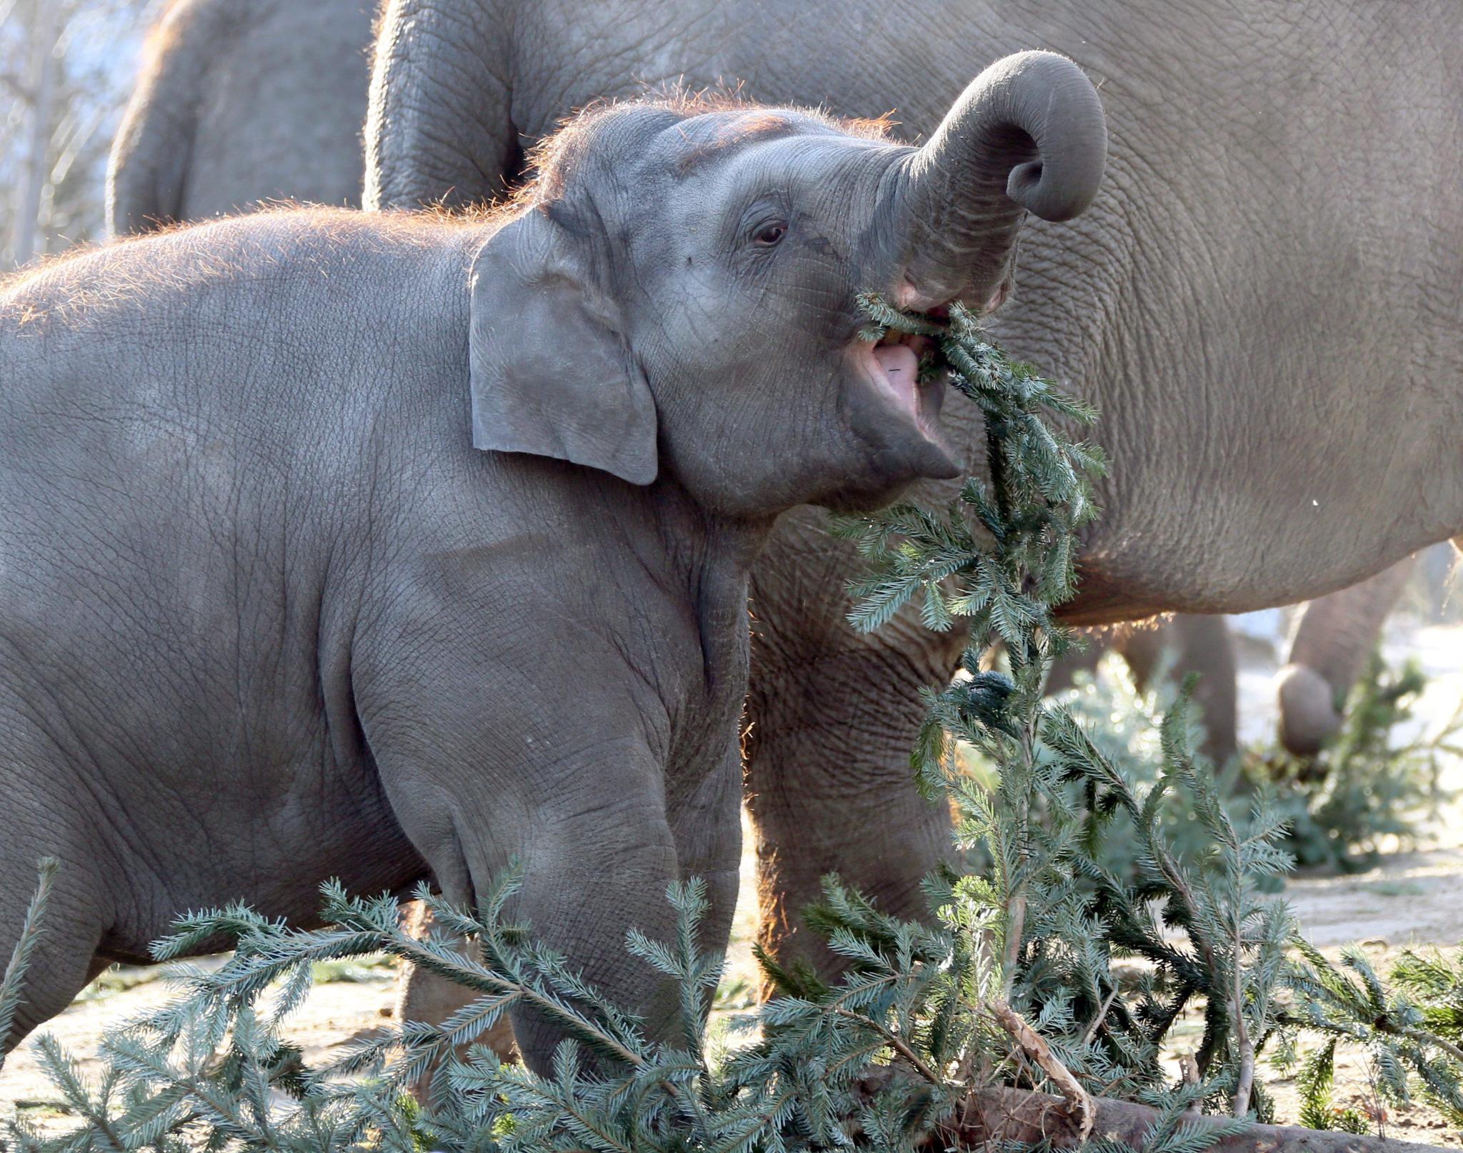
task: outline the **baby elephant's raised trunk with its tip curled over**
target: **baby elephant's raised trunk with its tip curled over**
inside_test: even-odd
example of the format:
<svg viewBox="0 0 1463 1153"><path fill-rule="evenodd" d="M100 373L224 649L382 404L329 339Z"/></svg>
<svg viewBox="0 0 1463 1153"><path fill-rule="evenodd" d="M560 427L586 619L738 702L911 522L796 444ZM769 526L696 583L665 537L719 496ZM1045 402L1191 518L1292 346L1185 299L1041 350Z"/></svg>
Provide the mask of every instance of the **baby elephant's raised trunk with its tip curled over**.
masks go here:
<svg viewBox="0 0 1463 1153"><path fill-rule="evenodd" d="M898 174L901 303L999 303L1026 212L1064 221L1097 195L1102 101L1071 60L1008 56L982 72Z"/></svg>

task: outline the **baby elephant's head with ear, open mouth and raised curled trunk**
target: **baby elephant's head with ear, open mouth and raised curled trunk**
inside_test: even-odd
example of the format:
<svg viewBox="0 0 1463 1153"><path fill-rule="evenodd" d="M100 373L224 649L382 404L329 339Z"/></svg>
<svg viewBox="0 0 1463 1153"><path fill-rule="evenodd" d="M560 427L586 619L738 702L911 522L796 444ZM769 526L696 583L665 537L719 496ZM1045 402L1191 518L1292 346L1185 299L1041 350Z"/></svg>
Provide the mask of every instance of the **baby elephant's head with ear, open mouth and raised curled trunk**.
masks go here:
<svg viewBox="0 0 1463 1153"><path fill-rule="evenodd" d="M878 126L705 99L582 114L474 268L478 448L734 517L865 506L960 467L910 341L859 339L857 294L990 303L1027 211L1080 212L1102 107L1064 57L982 73L923 148Z"/></svg>

